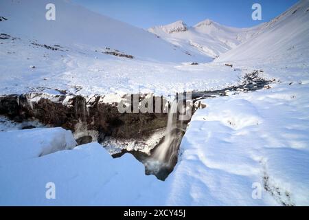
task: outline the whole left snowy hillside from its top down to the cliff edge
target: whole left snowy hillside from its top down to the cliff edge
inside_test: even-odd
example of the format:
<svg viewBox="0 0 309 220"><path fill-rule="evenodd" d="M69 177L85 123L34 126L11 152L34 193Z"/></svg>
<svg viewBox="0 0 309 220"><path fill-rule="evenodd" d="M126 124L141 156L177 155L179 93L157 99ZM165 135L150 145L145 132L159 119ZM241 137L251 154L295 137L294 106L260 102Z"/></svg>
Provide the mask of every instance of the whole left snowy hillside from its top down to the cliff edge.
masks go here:
<svg viewBox="0 0 309 220"><path fill-rule="evenodd" d="M0 33L10 35L0 39L0 94L58 94L55 89L127 94L140 89L168 96L184 89L222 88L237 83L241 74L222 65L189 65L196 58L154 34L67 1L54 1L56 21L47 21L47 2L0 2L0 14L7 19L0 21ZM134 58L105 54L115 50Z"/></svg>

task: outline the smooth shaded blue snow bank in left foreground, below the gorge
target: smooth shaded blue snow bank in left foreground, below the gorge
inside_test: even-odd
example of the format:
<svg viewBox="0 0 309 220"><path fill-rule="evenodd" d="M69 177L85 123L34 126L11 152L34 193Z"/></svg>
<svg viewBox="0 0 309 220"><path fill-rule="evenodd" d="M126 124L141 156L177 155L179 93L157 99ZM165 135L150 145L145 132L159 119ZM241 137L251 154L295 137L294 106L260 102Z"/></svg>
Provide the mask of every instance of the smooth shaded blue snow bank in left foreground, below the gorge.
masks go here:
<svg viewBox="0 0 309 220"><path fill-rule="evenodd" d="M157 181L133 155L113 159L98 143L1 164L0 177L1 206L129 206L149 198L143 191ZM45 197L48 182L56 186L56 199Z"/></svg>

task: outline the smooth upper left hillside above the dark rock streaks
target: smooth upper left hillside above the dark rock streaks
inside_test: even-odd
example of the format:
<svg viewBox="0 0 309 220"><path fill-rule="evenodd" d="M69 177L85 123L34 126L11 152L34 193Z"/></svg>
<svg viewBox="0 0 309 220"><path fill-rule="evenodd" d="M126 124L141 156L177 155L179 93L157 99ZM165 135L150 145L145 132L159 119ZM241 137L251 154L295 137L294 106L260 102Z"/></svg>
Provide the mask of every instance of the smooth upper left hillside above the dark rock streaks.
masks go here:
<svg viewBox="0 0 309 220"><path fill-rule="evenodd" d="M54 0L56 21L45 19L51 1L0 1L1 33L45 44L73 45L98 50L110 47L126 54L158 61L192 58L153 34L127 23L96 14L69 1Z"/></svg>

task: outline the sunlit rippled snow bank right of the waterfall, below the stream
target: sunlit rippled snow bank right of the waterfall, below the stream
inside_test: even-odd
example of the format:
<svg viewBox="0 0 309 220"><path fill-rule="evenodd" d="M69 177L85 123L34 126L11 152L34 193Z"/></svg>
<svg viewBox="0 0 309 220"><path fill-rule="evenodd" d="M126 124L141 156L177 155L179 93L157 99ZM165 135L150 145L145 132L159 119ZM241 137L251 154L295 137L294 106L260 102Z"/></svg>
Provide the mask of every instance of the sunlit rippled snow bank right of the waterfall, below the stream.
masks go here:
<svg viewBox="0 0 309 220"><path fill-rule="evenodd" d="M308 91L308 85L277 85L205 100L168 178L169 203L308 205ZM255 183L262 186L261 199L251 197Z"/></svg>

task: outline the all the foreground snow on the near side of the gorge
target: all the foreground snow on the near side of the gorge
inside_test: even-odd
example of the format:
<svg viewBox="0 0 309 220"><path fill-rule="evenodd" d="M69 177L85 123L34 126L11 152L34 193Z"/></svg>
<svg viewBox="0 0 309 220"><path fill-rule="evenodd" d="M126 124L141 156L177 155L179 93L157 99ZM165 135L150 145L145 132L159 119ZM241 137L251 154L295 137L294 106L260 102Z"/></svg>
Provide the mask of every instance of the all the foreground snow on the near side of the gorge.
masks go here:
<svg viewBox="0 0 309 220"><path fill-rule="evenodd" d="M41 150L34 149L41 149L42 137L45 143L46 138L53 140L53 129L0 133L2 141L16 140L6 148L1 144L0 188L5 200L0 203L278 206L286 201L306 205L309 85L272 86L204 100L207 108L194 114L183 137L179 163L165 181L144 175L144 166L133 155L113 159L98 143L38 157ZM20 151L20 146L31 155ZM16 156L18 151L8 151L9 147L18 148L23 157ZM263 188L262 199L253 199L252 184L264 186L265 175L271 189L279 188L282 195L288 192L290 199L271 196ZM56 184L54 200L45 199L49 181Z"/></svg>

